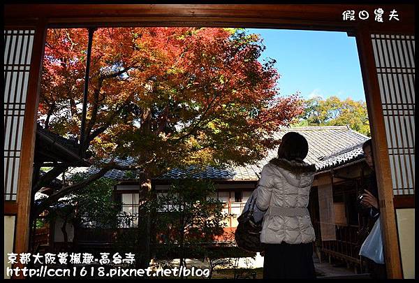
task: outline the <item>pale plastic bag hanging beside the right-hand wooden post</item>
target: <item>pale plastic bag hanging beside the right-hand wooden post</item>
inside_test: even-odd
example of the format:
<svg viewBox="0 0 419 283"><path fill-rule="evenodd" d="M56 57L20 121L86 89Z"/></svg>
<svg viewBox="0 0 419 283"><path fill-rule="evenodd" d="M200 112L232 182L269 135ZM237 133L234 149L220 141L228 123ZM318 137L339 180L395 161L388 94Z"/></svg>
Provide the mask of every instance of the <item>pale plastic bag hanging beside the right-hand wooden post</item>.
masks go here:
<svg viewBox="0 0 419 283"><path fill-rule="evenodd" d="M360 256L365 256L375 263L384 264L383 239L381 237L381 224L380 218L378 218L371 232L362 243Z"/></svg>

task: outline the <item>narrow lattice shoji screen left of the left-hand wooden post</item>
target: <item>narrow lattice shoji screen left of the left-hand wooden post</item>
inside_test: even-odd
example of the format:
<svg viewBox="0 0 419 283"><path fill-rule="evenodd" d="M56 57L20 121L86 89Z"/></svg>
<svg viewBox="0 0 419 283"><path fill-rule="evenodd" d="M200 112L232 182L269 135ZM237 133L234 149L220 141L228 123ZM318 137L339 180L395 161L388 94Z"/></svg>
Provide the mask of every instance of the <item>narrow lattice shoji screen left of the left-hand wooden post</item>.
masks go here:
<svg viewBox="0 0 419 283"><path fill-rule="evenodd" d="M16 201L34 30L4 31L4 200Z"/></svg>

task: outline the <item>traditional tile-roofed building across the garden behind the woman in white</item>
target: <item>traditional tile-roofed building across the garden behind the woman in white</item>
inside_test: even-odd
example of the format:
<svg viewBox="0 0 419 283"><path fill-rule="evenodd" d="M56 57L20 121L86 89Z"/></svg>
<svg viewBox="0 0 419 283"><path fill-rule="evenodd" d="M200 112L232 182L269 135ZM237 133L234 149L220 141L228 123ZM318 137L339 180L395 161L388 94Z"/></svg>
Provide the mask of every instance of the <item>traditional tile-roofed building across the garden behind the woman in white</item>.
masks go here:
<svg viewBox="0 0 419 283"><path fill-rule="evenodd" d="M344 259L362 270L361 259L358 256L357 233L362 226L362 219L356 209L356 198L362 190L362 178L368 172L365 167L362 144L369 138L348 126L308 126L284 128L278 131L274 138L280 139L288 131L302 134L309 143L309 153L306 161L314 164L317 169L316 178L311 190L310 211L312 222L316 230L316 252L321 259L328 256L328 260ZM277 149L267 152L265 159L257 164L231 167L212 168L192 173L192 177L212 180L216 184L217 192L214 198L224 203L223 212L233 214L226 221L225 234L216 238L215 242L226 242L228 235L237 227L237 217L241 214L244 204L258 183L260 171L267 162L276 157ZM120 164L130 165L132 159L119 160ZM70 173L96 173L97 168L78 167ZM171 170L166 175L152 180L152 188L157 194L165 193L173 180L179 180L190 173L187 170ZM122 170L110 170L105 177L117 180L115 198L122 201L122 212L132 217L133 222L124 228L134 228L138 223L135 216L138 212L140 182L127 179ZM82 229L79 242L89 245L100 242L108 245L112 237L111 231L93 233L90 228ZM60 232L59 232L60 233ZM54 236L58 242L61 235ZM351 238L351 240L348 240ZM214 243L215 243L214 242ZM345 245L345 249L340 248ZM357 252L358 249L358 252Z"/></svg>

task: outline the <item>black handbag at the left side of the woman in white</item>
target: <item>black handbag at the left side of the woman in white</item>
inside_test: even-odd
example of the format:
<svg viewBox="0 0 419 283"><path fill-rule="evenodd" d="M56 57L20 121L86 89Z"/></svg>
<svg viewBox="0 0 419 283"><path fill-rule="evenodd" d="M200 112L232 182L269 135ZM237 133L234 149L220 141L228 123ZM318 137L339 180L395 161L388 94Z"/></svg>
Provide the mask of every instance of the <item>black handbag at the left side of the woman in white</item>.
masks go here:
<svg viewBox="0 0 419 283"><path fill-rule="evenodd" d="M253 201L253 203L252 203ZM262 231L263 219L256 222L253 217L253 211L256 204L256 198L251 196L250 209L242 212L237 218L237 228L235 230L235 242L247 252L263 252L263 243L260 242L260 231Z"/></svg>

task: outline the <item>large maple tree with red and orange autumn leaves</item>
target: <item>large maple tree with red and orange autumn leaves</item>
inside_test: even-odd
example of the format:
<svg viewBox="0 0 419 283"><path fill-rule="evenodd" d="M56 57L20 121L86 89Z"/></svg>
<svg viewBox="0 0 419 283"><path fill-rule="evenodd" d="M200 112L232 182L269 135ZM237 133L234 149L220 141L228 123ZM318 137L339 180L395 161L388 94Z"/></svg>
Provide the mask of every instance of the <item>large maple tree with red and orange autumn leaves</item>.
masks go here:
<svg viewBox="0 0 419 283"><path fill-rule="evenodd" d="M38 122L80 140L87 29L48 29ZM82 152L97 173L55 191L35 214L108 170L142 182L191 164L251 164L279 144L272 133L302 113L279 96L274 60L242 29L100 28L94 32ZM115 160L133 158L131 166ZM33 193L66 170L52 168ZM147 187L147 186L146 186Z"/></svg>

